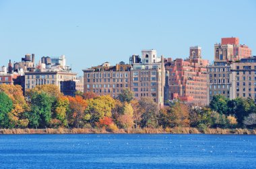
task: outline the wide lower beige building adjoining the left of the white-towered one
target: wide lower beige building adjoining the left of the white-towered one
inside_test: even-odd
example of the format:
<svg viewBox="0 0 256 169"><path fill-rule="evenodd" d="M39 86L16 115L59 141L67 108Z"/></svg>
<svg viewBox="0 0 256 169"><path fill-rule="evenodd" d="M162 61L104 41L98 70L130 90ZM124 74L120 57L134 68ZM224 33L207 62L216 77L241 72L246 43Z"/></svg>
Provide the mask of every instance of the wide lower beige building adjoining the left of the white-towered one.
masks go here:
<svg viewBox="0 0 256 169"><path fill-rule="evenodd" d="M102 65L88 68L84 71L84 93L93 92L96 95L110 95L116 98L123 89L130 89L131 65L120 62L110 66Z"/></svg>

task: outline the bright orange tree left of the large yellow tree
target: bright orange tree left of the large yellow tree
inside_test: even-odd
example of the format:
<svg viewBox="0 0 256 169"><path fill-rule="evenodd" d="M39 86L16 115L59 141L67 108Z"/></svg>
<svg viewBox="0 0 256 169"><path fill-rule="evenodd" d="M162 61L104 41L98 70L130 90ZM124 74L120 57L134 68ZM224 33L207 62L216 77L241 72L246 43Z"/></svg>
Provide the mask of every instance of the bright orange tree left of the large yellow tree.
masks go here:
<svg viewBox="0 0 256 169"><path fill-rule="evenodd" d="M75 97L68 97L69 98L69 109L71 112L71 116L69 115L69 123L73 124L75 127L79 128L79 124L83 123L84 118L84 111L88 106L86 100L82 97L76 95Z"/></svg>

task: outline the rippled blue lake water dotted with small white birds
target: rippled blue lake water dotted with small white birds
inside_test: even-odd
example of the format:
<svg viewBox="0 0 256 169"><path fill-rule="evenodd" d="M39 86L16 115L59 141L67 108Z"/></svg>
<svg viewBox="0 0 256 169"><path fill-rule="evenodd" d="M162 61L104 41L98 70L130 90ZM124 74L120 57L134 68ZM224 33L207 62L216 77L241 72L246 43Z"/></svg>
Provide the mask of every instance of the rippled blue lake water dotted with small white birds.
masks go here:
<svg viewBox="0 0 256 169"><path fill-rule="evenodd" d="M256 136L0 135L0 168L256 168Z"/></svg>

